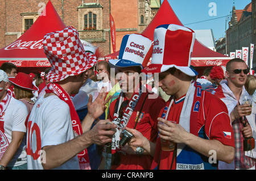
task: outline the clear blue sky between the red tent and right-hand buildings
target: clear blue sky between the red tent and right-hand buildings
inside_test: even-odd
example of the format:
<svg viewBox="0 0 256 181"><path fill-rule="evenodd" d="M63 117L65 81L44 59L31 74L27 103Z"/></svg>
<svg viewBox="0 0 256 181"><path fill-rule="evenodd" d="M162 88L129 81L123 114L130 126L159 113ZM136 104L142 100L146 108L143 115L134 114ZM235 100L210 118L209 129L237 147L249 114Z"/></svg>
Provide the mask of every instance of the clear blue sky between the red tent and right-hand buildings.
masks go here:
<svg viewBox="0 0 256 181"><path fill-rule="evenodd" d="M163 2L163 0L161 0ZM176 16L192 30L212 29L217 40L225 36L226 18L234 6L242 10L251 0L168 0ZM197 23L200 22L200 23ZM228 28L228 23L227 23Z"/></svg>

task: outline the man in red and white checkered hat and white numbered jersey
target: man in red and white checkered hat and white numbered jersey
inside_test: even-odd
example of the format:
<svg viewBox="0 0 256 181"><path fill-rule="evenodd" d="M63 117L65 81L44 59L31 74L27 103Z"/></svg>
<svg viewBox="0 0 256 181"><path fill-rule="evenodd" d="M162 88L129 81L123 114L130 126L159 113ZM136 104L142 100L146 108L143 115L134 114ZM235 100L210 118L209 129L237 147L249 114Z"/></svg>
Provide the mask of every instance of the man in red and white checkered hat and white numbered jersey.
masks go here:
<svg viewBox="0 0 256 181"><path fill-rule="evenodd" d="M73 27L47 33L43 44L52 69L46 76L48 90L28 117L28 169L90 169L86 148L109 142L116 127L102 120L90 129L104 112L102 91L93 103L90 96L82 124L70 98L79 92L85 71L96 63L95 55L85 52Z"/></svg>

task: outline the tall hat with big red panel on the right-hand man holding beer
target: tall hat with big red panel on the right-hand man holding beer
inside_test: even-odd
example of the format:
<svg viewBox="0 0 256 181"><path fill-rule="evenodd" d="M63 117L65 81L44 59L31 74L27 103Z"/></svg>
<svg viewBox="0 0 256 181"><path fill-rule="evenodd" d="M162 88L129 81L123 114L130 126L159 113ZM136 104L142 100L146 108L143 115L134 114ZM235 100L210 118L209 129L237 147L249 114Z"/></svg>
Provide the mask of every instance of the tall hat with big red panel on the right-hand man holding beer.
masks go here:
<svg viewBox="0 0 256 181"><path fill-rule="evenodd" d="M163 24L154 32L154 47L151 64L144 73L161 73L172 67L183 73L195 76L198 73L190 68L195 32L176 24Z"/></svg>

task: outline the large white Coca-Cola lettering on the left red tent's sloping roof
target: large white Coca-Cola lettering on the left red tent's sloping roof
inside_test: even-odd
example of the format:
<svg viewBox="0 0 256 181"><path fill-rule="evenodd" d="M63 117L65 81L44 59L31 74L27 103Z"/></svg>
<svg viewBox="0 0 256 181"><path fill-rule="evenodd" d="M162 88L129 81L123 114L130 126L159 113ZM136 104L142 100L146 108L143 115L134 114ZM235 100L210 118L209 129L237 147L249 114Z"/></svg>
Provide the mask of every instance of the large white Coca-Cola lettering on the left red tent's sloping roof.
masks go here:
<svg viewBox="0 0 256 181"><path fill-rule="evenodd" d="M5 47L5 50L12 50L12 49L42 49L43 43L42 40L38 41L22 41L17 40Z"/></svg>

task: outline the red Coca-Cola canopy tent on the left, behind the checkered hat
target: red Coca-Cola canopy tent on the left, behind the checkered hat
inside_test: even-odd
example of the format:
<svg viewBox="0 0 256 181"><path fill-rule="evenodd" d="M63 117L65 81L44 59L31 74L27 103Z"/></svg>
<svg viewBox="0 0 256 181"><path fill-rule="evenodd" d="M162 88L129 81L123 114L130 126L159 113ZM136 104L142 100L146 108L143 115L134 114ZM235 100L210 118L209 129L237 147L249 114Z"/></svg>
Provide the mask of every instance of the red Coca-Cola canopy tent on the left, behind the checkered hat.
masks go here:
<svg viewBox="0 0 256 181"><path fill-rule="evenodd" d="M25 73L45 70L51 64L44 54L43 37L46 33L60 31L65 27L49 1L30 29L10 45L0 49L0 65L11 62L18 67L18 71Z"/></svg>

